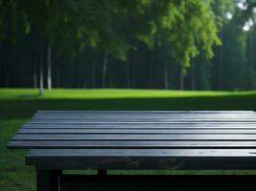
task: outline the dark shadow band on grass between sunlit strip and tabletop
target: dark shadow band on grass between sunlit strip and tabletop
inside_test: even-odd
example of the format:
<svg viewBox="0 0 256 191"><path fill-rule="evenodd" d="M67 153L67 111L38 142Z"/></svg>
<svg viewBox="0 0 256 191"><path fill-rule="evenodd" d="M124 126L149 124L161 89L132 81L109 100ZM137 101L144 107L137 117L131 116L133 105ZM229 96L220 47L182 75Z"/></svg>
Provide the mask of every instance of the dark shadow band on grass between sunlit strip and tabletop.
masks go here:
<svg viewBox="0 0 256 191"><path fill-rule="evenodd" d="M256 96L0 99L0 119L29 118L36 110L256 110Z"/></svg>

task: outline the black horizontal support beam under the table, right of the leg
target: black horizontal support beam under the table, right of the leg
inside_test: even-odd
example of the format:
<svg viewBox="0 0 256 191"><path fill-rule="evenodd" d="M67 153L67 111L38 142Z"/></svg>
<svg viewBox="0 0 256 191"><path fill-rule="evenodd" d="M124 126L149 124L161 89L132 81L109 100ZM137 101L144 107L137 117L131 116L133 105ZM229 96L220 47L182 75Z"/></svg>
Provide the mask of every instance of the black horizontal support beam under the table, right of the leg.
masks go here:
<svg viewBox="0 0 256 191"><path fill-rule="evenodd" d="M255 190L255 176L63 175L61 191L241 191Z"/></svg>

